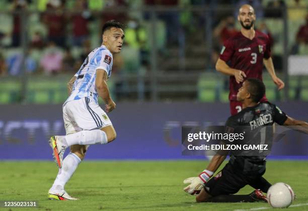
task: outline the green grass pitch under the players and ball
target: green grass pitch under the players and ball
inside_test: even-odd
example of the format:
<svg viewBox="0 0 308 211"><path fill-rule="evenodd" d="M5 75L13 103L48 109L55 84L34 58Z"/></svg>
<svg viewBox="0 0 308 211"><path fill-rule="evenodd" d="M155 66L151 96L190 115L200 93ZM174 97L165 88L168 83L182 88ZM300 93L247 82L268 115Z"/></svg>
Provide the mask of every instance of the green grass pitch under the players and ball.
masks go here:
<svg viewBox="0 0 308 211"><path fill-rule="evenodd" d="M66 184L78 201L48 200L57 174L53 162L1 161L0 200L35 200L37 208L11 210L235 210L270 208L267 203L196 203L183 191L183 180L196 176L207 161L84 161ZM224 165L224 164L223 164ZM222 165L222 166L223 166ZM268 161L265 178L291 185L290 210L307 210L308 162ZM250 193L249 186L240 193ZM8 208L0 208L9 210Z"/></svg>

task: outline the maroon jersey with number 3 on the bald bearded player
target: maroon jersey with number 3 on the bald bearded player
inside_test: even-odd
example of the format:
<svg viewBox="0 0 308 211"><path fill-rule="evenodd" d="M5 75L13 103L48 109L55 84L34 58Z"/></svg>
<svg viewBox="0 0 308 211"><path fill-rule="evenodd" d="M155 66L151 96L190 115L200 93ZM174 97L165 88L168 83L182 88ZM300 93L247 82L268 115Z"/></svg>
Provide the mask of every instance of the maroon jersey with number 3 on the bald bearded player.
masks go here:
<svg viewBox="0 0 308 211"><path fill-rule="evenodd" d="M223 44L219 58L230 62L231 68L242 70L246 78L262 80L263 58L271 57L270 40L268 36L256 30L255 37L250 40L239 32L230 37ZM237 83L234 76L230 76L229 100L236 100L242 83Z"/></svg>

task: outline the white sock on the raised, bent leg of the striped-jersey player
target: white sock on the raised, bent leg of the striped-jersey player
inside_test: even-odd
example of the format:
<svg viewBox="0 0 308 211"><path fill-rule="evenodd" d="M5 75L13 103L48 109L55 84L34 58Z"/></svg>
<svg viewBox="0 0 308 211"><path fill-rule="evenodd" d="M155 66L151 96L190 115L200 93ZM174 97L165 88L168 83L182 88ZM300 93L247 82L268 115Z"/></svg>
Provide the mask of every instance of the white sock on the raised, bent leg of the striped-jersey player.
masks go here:
<svg viewBox="0 0 308 211"><path fill-rule="evenodd" d="M74 144L107 144L107 135L102 130L80 131L78 133L68 134L65 136L67 146Z"/></svg>

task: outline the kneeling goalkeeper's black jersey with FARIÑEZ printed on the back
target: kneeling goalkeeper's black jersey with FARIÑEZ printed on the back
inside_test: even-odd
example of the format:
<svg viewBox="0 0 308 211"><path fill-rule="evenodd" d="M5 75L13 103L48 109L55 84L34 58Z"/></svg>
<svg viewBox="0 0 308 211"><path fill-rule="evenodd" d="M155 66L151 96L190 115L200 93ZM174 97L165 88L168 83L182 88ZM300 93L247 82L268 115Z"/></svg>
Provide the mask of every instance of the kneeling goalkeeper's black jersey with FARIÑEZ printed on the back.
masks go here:
<svg viewBox="0 0 308 211"><path fill-rule="evenodd" d="M272 138L273 129L271 126L274 123L283 125L286 119L287 116L285 113L283 113L275 104L270 102L260 102L254 107L245 108L237 115L229 117L225 126L237 133L246 130L246 132L253 134L252 137L254 137L254 139L248 139L247 144L249 144L249 142L256 143L256 141L264 143L265 140L262 139L269 141L269 139ZM260 133L260 130L262 129L264 129L263 135ZM253 170L253 168L255 168L255 171L262 171L262 169L265 170L265 160L265 155L245 156L244 154L244 156L234 156L232 152L230 154L230 163L236 163L237 166L240 166L244 171L250 171ZM251 163L257 165L252 166Z"/></svg>

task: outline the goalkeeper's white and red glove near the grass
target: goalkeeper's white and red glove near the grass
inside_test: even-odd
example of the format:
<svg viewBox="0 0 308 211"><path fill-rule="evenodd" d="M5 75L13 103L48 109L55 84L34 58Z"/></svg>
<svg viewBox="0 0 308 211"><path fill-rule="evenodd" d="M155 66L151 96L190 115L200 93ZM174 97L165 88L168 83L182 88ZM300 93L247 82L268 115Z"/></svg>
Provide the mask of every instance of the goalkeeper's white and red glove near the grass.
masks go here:
<svg viewBox="0 0 308 211"><path fill-rule="evenodd" d="M184 188L184 191L191 194L197 195L200 193L205 183L209 180L209 178L213 175L212 171L204 170L197 177L189 177L185 179L183 182L190 183L190 185Z"/></svg>

